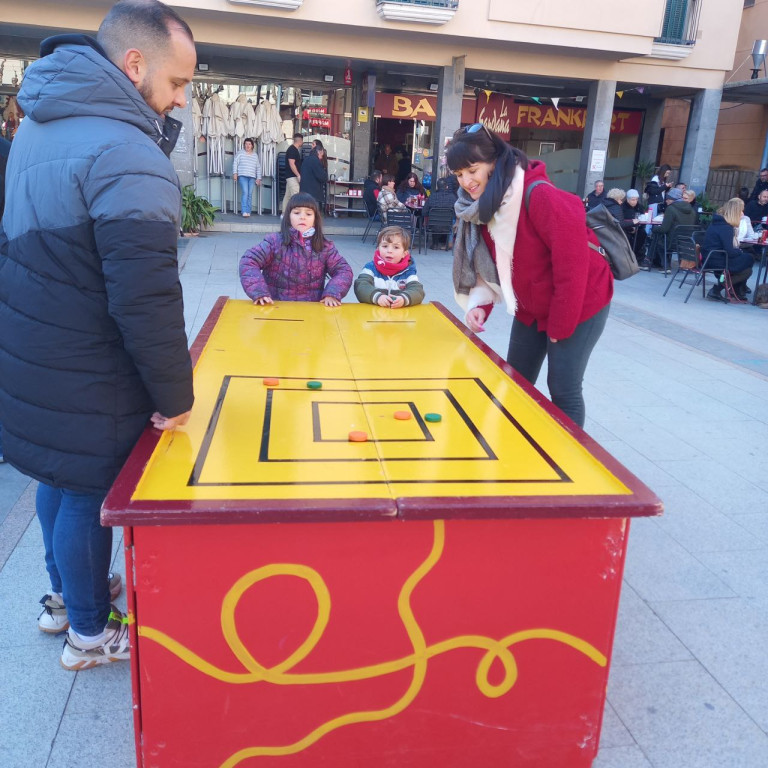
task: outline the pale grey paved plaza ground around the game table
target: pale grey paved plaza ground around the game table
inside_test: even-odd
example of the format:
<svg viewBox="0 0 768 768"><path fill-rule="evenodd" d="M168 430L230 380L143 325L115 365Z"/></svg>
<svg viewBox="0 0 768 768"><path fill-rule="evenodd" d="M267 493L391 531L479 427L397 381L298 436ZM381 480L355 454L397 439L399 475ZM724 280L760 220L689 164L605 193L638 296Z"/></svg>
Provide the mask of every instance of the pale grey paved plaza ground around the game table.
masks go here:
<svg viewBox="0 0 768 768"><path fill-rule="evenodd" d="M226 231L243 228L223 217L224 231L181 241L190 339L218 296L244 297L238 258L261 235ZM372 253L349 234L359 228L327 222L347 233L333 237L355 271ZM450 254L417 260L427 298L456 309ZM616 284L586 375L587 431L666 507L631 525L594 768L765 768L768 311L700 291L684 305L674 287L662 298L664 286L657 272ZM497 310L485 334L502 355L509 325ZM543 372L546 393L545 381ZM36 628L48 583L34 487L0 465L0 766L134 768L129 665L67 672L61 639ZM120 533L114 566L124 572ZM194 610L194 595L179 599Z"/></svg>

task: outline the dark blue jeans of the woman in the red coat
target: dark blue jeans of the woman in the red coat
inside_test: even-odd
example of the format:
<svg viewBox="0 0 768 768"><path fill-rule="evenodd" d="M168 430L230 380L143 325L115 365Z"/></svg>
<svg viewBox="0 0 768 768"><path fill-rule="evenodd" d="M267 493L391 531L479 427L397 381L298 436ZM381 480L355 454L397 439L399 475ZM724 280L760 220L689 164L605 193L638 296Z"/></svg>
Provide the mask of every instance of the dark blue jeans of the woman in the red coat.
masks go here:
<svg viewBox="0 0 768 768"><path fill-rule="evenodd" d="M539 371L547 358L547 386L552 402L580 427L584 426L586 410L582 384L587 363L608 320L608 307L579 323L567 338L553 344L546 333L531 326L512 321L507 362L525 379L536 384Z"/></svg>

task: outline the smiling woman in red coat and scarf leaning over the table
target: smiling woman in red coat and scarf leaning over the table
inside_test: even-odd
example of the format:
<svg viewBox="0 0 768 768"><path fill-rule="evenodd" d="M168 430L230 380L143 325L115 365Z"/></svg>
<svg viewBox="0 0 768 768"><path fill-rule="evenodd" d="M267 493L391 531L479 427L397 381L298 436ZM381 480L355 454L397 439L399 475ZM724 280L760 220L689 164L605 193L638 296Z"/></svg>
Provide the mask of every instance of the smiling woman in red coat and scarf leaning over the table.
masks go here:
<svg viewBox="0 0 768 768"><path fill-rule="evenodd" d="M583 427L584 371L613 295L584 206L480 123L454 134L447 161L461 187L453 281L467 325L482 331L503 301L515 316L507 361L535 384L546 357L552 402Z"/></svg>

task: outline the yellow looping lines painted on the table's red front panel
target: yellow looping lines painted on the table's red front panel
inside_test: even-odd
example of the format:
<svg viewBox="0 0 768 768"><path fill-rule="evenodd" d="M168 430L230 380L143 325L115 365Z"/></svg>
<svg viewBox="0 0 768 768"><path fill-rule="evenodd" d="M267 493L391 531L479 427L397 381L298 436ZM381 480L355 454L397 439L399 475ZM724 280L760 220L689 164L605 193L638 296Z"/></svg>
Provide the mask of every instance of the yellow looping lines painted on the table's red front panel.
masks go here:
<svg viewBox="0 0 768 768"><path fill-rule="evenodd" d="M517 663L510 650L512 646L524 640L555 640L574 648L583 653L596 664L604 667L607 663L605 656L594 646L585 640L569 635L567 632L559 632L554 629L528 629L521 632L514 632L511 635L494 640L483 635L459 635L457 637L443 640L434 645L427 645L424 635L419 627L416 617L411 610L411 594L416 585L429 573L432 567L440 559L445 544L445 522L442 520L434 521L434 539L432 550L424 562L408 577L397 599L397 609L403 626L408 634L413 647L413 652L407 656L391 661L384 661L379 664L372 664L357 669L344 669L336 672L312 672L312 673L290 673L290 670L305 659L317 645L325 631L328 619L331 613L331 596L325 582L317 571L304 565L292 563L276 563L257 568L238 579L232 588L227 592L221 606L221 628L232 652L245 667L247 672L227 672L210 664L205 659L198 656L194 651L178 643L172 637L169 637L160 630L152 627L139 626L139 636L148 640L153 640L163 646L182 661L191 667L202 672L204 675L221 680L225 683L245 684L268 682L274 685L322 685L329 683L345 683L352 680L367 680L382 675L389 675L393 672L399 672L409 667L413 669L413 676L408 689L405 693L390 707L384 709L350 712L349 714L335 717L327 723L323 723L304 738L299 739L293 744L284 746L263 746L248 747L235 752L225 760L220 768L234 768L250 757L261 757L264 755L291 755L301 752L314 744L331 731L342 728L345 725L354 723L374 722L376 720L385 720L402 712L416 698L424 683L427 673L427 662L429 659L447 653L457 648L478 648L484 650L480 663L475 673L475 684L478 689L489 698L497 698L507 693L517 681ZM235 625L235 609L243 593L254 584L272 576L296 576L304 579L312 588L317 600L317 619L312 631L307 639L280 664L274 667L266 668L251 656L247 648L243 645L237 634ZM504 678L496 685L488 680L491 665L498 660L504 668Z"/></svg>

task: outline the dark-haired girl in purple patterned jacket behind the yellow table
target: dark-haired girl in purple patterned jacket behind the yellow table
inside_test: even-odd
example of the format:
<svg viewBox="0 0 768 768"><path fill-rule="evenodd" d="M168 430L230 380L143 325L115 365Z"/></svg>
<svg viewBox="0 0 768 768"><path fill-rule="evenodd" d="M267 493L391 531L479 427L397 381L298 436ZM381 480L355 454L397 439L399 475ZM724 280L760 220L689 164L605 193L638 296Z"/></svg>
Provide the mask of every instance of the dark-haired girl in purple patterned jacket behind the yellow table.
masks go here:
<svg viewBox="0 0 768 768"><path fill-rule="evenodd" d="M240 282L254 304L321 301L338 307L352 279L352 268L323 237L315 198L305 193L288 202L280 232L267 235L240 259Z"/></svg>

